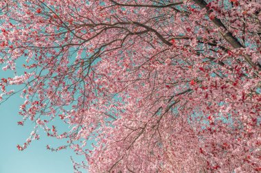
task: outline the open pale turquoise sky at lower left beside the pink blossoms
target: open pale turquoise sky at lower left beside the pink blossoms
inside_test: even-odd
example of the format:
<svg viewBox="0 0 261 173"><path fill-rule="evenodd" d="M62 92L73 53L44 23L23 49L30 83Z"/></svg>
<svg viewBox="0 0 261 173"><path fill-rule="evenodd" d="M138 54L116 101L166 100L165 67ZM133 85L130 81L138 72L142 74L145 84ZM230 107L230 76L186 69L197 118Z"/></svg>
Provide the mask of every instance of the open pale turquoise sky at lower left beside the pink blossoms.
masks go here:
<svg viewBox="0 0 261 173"><path fill-rule="evenodd" d="M0 69L0 78L10 76L10 72ZM32 122L28 121L24 126L18 126L22 120L19 105L23 103L19 94L11 97L7 102L0 105L0 173L71 173L73 164L70 156L76 161L83 159L76 156L71 150L51 152L46 150L47 144L55 146L63 145L57 139L46 137L40 133L39 141L32 141L31 145L23 151L16 148L17 144L23 144L33 130Z"/></svg>

